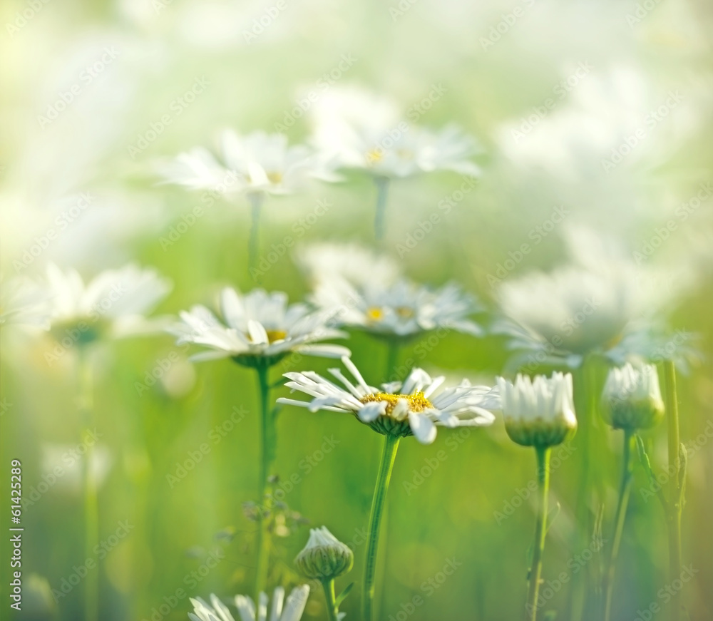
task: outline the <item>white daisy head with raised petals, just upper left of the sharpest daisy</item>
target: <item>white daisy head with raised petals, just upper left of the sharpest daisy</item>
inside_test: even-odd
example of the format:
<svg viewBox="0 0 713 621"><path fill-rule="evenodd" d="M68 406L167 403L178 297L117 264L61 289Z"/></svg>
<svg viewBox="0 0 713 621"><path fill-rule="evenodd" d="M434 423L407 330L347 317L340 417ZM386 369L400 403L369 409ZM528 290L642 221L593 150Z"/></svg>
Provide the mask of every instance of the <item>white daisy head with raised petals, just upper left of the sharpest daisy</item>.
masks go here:
<svg viewBox="0 0 713 621"><path fill-rule="evenodd" d="M255 366L260 361L275 364L291 351L329 358L351 355L341 345L315 344L347 336L327 325L331 314L312 312L305 304L288 304L283 292L254 289L242 295L226 287L220 294L220 314L225 323L207 308L194 306L181 312L182 322L168 331L178 337L178 344L195 343L209 349L193 360L230 357Z"/></svg>

